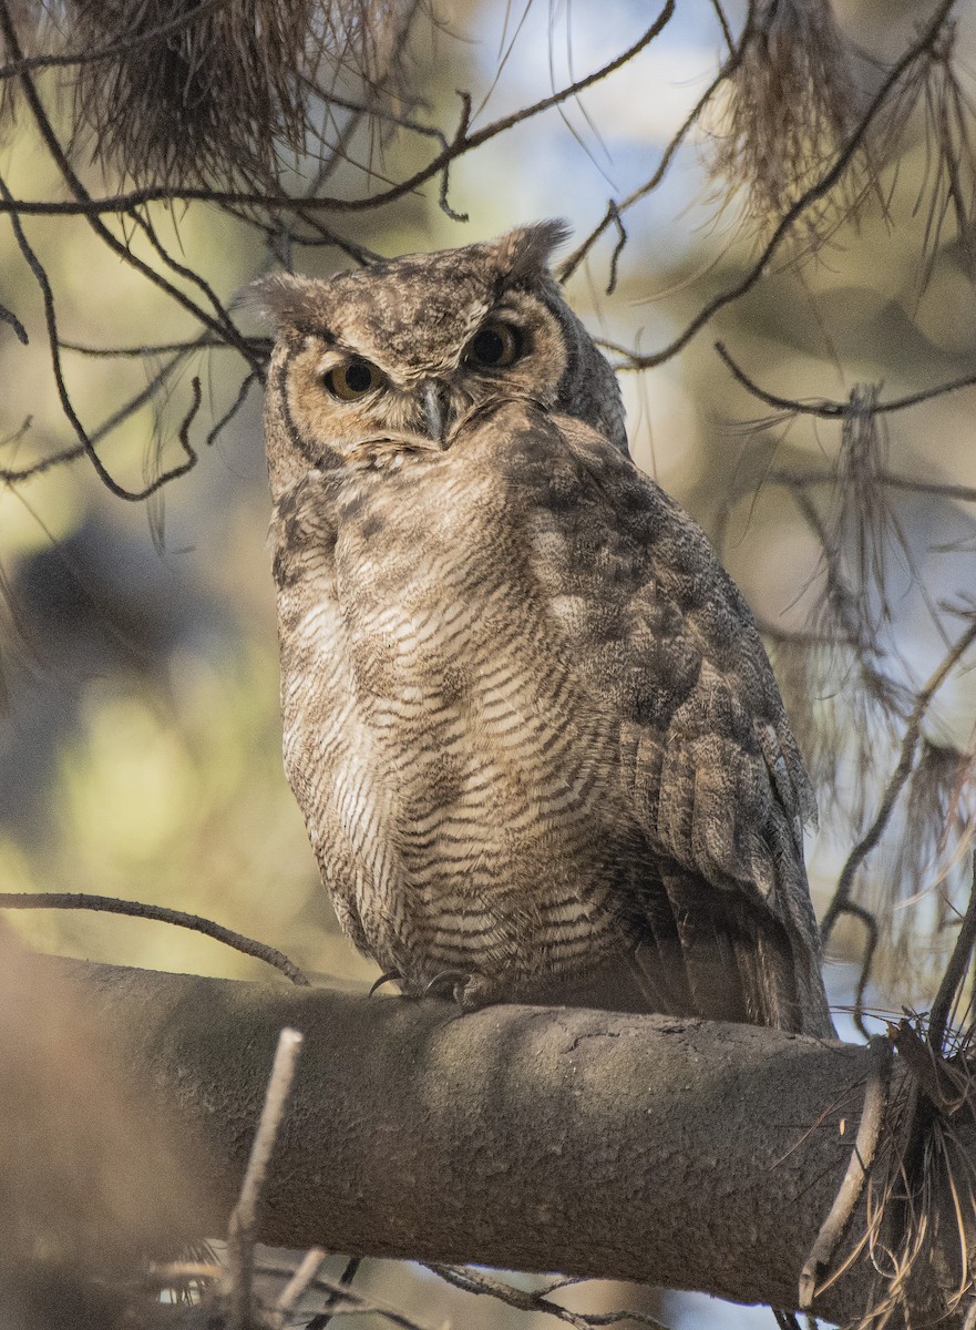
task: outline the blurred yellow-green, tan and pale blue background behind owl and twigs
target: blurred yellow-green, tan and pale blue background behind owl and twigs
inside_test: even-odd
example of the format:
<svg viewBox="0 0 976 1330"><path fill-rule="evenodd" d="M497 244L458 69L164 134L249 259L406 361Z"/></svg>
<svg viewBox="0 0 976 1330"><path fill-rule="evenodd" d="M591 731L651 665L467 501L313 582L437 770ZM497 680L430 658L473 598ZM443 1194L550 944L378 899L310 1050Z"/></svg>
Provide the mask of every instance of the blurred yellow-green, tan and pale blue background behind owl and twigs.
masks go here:
<svg viewBox="0 0 976 1330"><path fill-rule="evenodd" d="M863 52L856 73L864 89L878 81L878 63L894 60L912 40L929 8L910 0L835 5L846 36ZM727 4L726 13L738 25L745 7ZM968 94L976 4L959 3L956 15L956 68ZM648 21L642 0L444 0L412 27L412 114L449 136L460 109L457 89L464 89L477 128L606 63ZM541 217L566 218L580 237L600 221L608 200L625 198L652 174L714 77L722 43L713 5L681 0L661 37L614 76L452 166L449 200L469 221L451 219L432 184L394 206L339 217L336 229L382 254L467 243ZM48 90L53 97L53 84ZM57 105L66 137L70 100ZM746 273L758 251L762 226L743 221L741 182L709 169L723 133L721 110L719 98L706 125L681 148L664 186L626 211L616 290L606 293L616 231L569 282L576 309L612 346L644 352L665 346L714 293ZM733 379L713 343L721 338L758 383L787 398L843 402L864 383L880 383L882 396L895 398L973 372L973 237L963 234L953 215L933 227L939 209L933 211L932 200L944 182L925 130L923 98L856 221L842 223L802 262L802 245L778 255L762 281L681 355L646 372L622 372L638 464L721 541L730 571L770 628L774 649L777 638L790 634L800 634L802 645L802 634L820 622L824 561L795 499L763 477L777 468L836 466L842 426L777 416ZM777 133L770 124L771 150ZM363 125L330 189L362 194L403 178L429 152L423 136ZM29 117L8 125L0 161L19 197L62 197ZM76 161L93 190L105 188L100 168L86 160L84 136ZM306 169L311 176L312 166ZM971 197L973 180L965 169L960 178ZM295 178L302 180L301 161ZM281 258L253 226L210 205L160 205L152 215L181 262L205 274L225 301ZM137 348L197 335L194 321L109 253L84 219L28 217L24 227L55 289L65 343ZM148 243L136 238L133 247L153 261ZM307 273L348 263L328 247L295 246L291 258ZM16 469L74 439L55 391L39 287L4 223L0 301L31 336L21 346L0 325L0 466ZM246 313L241 325L262 332ZM64 352L72 399L89 430L110 420L166 363L164 350L150 356ZM191 427L199 464L149 501L114 497L84 459L0 487L7 701L0 880L7 891L98 892L203 914L282 948L310 972L363 986L375 968L338 932L282 774L259 387L251 386L242 410L214 442L205 442L234 404L242 372L231 351L201 350L105 435L100 454L133 487L176 460L194 374L203 390ZM868 541L868 561L886 595L879 596L878 577L874 584L852 580L855 601L860 597L864 616L878 621L880 668L892 686L907 690L931 674L957 633L940 606L975 604L976 527L972 496L964 492L976 487L975 403L976 390L941 395L880 426L876 447L892 471L963 487L957 495L891 492ZM844 508L850 495L843 487L820 497L828 529L838 513L843 521L858 516ZM856 564L856 536L838 528L836 540ZM864 709L850 654L824 656L819 690L810 696L810 674L796 670L796 641L779 648L785 686L793 686L787 696L812 714L810 724L820 724L822 737L832 735L840 753L839 761L818 766L823 817L810 858L815 903L823 910L851 845L874 815L903 726L883 708ZM925 718L925 743L968 750L975 717L976 685L964 661ZM866 747L872 757L867 770ZM952 781L947 789L964 801L963 775L957 790ZM947 813L944 795L936 823ZM921 834L903 810L866 866L859 898L883 908L887 919L871 991L879 1009L896 1012L904 1001L924 1007L931 999L951 942L937 924L952 922L961 864L959 841L940 839L931 829ZM45 951L267 978L257 962L158 923L60 911L17 914L11 923ZM862 940L855 924L832 938L828 980L840 1005L852 992ZM390 1299L424 1307L428 1319L444 1295L437 1281L422 1274L378 1266L372 1278ZM605 1297L609 1307L617 1294ZM444 1306L444 1315L457 1318L453 1305ZM588 1306L593 1309L593 1297ZM499 1325L500 1314L493 1305L465 1305L452 1323ZM713 1314L715 1325L773 1323L766 1311L710 1310L694 1298L670 1298L662 1314L678 1326L709 1325ZM512 1323L535 1323L512 1317Z"/></svg>

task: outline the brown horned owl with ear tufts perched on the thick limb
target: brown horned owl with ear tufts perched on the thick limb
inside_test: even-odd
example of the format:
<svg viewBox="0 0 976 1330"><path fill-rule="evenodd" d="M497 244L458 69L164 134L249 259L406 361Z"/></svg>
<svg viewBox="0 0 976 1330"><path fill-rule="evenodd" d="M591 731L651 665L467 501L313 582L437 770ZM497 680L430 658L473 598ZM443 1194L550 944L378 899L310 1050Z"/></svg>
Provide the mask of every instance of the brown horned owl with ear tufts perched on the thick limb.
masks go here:
<svg viewBox="0 0 976 1330"><path fill-rule="evenodd" d="M407 995L832 1035L769 660L630 460L565 234L258 283L289 781Z"/></svg>

